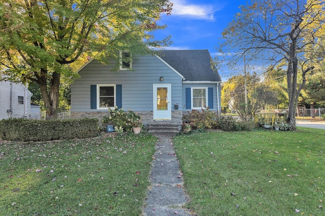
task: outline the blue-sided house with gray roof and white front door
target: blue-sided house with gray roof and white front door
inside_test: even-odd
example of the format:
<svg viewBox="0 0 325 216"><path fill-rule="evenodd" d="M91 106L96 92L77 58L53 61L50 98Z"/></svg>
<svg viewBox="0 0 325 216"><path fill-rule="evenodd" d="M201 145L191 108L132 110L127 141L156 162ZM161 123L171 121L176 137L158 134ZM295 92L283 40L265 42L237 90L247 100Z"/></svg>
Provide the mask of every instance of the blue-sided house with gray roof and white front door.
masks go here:
<svg viewBox="0 0 325 216"><path fill-rule="evenodd" d="M117 106L137 112L144 124L165 120L180 125L192 109L208 106L220 112L221 78L208 50L161 51L121 60L118 72L113 67L91 59L78 70L80 78L71 87L72 117L101 119Z"/></svg>

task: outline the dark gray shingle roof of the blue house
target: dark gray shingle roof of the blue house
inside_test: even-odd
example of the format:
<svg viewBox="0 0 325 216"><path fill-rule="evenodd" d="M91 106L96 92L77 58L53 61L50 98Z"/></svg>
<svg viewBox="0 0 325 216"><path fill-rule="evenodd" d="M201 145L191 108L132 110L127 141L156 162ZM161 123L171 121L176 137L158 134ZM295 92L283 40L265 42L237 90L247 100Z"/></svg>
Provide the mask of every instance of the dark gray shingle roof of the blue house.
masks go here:
<svg viewBox="0 0 325 216"><path fill-rule="evenodd" d="M211 68L208 50L165 50L159 57L182 74L185 81L221 81L218 71Z"/></svg>

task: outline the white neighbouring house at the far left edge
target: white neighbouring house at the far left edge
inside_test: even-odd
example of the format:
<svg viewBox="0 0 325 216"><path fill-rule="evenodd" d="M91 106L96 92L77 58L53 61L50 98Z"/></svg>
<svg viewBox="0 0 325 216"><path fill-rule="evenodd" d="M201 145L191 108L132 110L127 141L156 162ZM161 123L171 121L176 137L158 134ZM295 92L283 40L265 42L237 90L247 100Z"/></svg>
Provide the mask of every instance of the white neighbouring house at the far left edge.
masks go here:
<svg viewBox="0 0 325 216"><path fill-rule="evenodd" d="M32 94L22 83L0 81L0 119L26 117Z"/></svg>

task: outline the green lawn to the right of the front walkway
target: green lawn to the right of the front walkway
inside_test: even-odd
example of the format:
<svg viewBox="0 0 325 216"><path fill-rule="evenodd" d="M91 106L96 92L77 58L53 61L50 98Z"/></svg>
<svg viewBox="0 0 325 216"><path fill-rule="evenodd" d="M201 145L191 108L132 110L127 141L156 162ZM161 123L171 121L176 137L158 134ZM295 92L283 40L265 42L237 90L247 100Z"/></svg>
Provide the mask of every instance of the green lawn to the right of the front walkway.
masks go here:
<svg viewBox="0 0 325 216"><path fill-rule="evenodd" d="M325 130L298 128L175 137L186 207L198 215L325 215Z"/></svg>

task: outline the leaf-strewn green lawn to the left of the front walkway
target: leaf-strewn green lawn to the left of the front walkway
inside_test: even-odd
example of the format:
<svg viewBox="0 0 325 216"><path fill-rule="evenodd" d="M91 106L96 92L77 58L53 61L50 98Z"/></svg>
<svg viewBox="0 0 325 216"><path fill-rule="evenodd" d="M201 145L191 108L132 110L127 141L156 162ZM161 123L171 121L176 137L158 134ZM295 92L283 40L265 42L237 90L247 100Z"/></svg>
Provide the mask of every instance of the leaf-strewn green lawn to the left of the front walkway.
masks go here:
<svg viewBox="0 0 325 216"><path fill-rule="evenodd" d="M140 215L155 141L0 141L0 215Z"/></svg>

